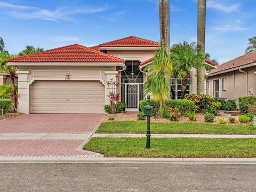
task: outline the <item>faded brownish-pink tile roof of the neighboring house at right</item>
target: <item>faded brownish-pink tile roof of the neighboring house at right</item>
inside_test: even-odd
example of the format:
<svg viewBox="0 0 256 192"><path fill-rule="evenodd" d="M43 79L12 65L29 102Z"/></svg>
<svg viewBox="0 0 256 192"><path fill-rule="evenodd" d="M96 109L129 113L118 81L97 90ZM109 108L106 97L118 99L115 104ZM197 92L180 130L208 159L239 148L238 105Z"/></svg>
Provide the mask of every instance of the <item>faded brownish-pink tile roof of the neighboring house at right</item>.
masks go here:
<svg viewBox="0 0 256 192"><path fill-rule="evenodd" d="M209 75L218 73L220 71L225 71L228 69L241 67L241 66L251 64L254 62L256 62L256 51L252 51L250 53L244 54L236 59L230 60L228 62L225 62L225 63L219 65L216 69L212 69L211 73Z"/></svg>

